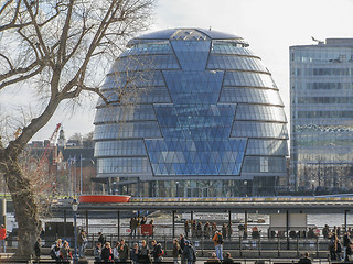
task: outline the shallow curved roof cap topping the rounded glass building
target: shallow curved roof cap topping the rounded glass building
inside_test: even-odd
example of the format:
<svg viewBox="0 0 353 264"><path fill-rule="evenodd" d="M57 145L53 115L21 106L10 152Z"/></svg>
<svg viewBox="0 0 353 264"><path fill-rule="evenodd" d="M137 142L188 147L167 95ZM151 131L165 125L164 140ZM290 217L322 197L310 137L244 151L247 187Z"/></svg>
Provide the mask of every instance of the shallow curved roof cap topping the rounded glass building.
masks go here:
<svg viewBox="0 0 353 264"><path fill-rule="evenodd" d="M239 43L248 45L243 37L233 35L229 33L223 33L214 30L204 30L204 29L168 29L162 31L157 31L148 33L145 35L137 36L128 42L127 46L132 46L141 42L158 41L158 40L233 40Z"/></svg>

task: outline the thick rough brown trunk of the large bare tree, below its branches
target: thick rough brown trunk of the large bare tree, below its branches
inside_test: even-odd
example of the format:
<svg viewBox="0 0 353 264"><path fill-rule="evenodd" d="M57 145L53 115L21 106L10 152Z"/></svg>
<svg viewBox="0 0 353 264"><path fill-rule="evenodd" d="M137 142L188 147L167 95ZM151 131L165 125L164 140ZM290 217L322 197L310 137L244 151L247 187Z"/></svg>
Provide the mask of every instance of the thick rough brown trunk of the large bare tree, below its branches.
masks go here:
<svg viewBox="0 0 353 264"><path fill-rule="evenodd" d="M1 161L2 160L2 161ZM30 258L34 242L40 232L39 210L35 201L35 193L30 179L23 175L18 157L0 157L2 168L6 167L4 178L11 193L19 224L19 246L14 257Z"/></svg>

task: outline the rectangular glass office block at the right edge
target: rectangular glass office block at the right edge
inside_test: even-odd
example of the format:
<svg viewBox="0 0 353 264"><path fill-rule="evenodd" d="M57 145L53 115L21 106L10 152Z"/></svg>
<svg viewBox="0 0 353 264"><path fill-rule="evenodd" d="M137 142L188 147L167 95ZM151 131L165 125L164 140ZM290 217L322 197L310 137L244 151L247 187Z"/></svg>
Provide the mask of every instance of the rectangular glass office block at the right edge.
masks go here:
<svg viewBox="0 0 353 264"><path fill-rule="evenodd" d="M352 189L353 38L290 47L291 168L299 190Z"/></svg>

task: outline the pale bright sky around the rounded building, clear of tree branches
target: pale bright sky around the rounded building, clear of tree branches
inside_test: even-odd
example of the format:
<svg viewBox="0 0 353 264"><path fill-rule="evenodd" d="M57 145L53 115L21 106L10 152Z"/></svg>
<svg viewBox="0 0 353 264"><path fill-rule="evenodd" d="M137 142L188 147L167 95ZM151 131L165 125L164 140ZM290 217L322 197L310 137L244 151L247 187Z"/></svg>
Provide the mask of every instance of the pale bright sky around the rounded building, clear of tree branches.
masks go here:
<svg viewBox="0 0 353 264"><path fill-rule="evenodd" d="M315 44L311 36L353 37L352 11L353 0L157 0L149 31L211 26L244 37L272 74L289 121L289 46ZM75 112L60 110L32 140L49 139L56 123L66 138L87 134L94 116L94 100Z"/></svg>

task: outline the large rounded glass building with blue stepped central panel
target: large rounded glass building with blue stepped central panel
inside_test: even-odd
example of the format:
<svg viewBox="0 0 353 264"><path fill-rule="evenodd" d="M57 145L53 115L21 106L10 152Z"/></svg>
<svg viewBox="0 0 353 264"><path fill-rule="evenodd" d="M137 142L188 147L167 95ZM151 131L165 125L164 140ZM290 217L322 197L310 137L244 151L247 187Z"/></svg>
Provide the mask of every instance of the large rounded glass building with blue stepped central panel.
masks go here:
<svg viewBox="0 0 353 264"><path fill-rule="evenodd" d="M200 29L132 38L97 105L98 177L133 196L274 195L287 176L287 120L248 46Z"/></svg>

